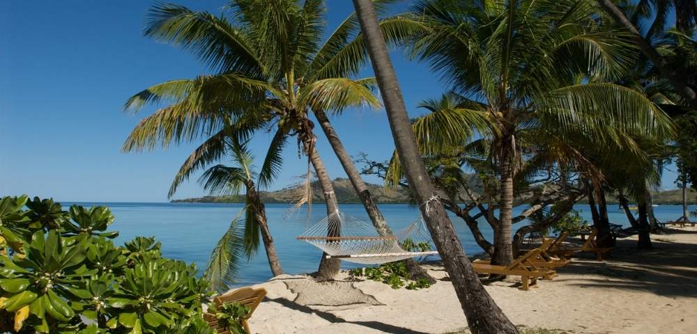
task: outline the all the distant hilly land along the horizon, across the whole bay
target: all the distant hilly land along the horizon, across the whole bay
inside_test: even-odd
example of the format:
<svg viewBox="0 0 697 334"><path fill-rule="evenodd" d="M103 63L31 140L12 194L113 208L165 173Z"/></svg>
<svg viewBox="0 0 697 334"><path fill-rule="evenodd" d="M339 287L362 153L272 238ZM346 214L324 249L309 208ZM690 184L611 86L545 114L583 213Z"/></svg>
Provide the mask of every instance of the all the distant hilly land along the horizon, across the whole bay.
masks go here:
<svg viewBox="0 0 697 334"><path fill-rule="evenodd" d="M472 175L474 178L474 175ZM469 180L470 184L473 184L474 188L477 189L477 182L475 180ZM353 190L351 182L346 178L337 178L333 181L334 191L337 194L337 200L340 203L360 203L358 195ZM399 203L410 203L411 195L408 189L402 188L385 188L379 184L368 184L370 189L370 194L378 203L382 204L399 204ZM324 197L322 196L322 191L318 182L312 183L312 190L314 197L313 202L323 202ZM277 191L261 191L261 200L265 203L294 203L298 201L300 197L300 189L298 186L291 186ZM690 189L688 192L688 202L693 204L697 192ZM187 202L187 203L239 203L244 202L245 196L204 196L198 198L183 198L178 200L171 200L173 203L177 202ZM581 201L580 203L584 203ZM615 196L607 197L608 204L617 204L617 198ZM682 190L671 189L664 191L654 192L654 204L657 205L680 205L682 204Z"/></svg>

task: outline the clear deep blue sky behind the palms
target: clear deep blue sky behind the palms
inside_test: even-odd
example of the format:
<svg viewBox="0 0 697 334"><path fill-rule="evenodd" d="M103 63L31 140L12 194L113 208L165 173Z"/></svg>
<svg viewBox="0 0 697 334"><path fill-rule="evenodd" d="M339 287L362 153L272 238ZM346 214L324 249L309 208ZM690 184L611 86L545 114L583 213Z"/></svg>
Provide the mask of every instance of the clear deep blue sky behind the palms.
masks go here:
<svg viewBox="0 0 697 334"><path fill-rule="evenodd" d="M173 1L220 13L224 0ZM351 12L351 1L328 2L328 28ZM169 79L205 71L186 51L142 36L149 1L0 1L0 196L62 201L163 202L171 178L197 143L169 150L121 152L140 118L124 113L128 97ZM393 54L407 107L445 87L420 63ZM365 71L371 75L369 70ZM384 160L394 148L382 110L349 111L334 119L348 152ZM330 176L344 177L328 143L319 151ZM263 157L270 136L252 142ZM273 189L299 181L307 161L295 145ZM664 187L673 187L673 173ZM202 196L195 179L176 198ZM369 178L370 182L378 182Z"/></svg>

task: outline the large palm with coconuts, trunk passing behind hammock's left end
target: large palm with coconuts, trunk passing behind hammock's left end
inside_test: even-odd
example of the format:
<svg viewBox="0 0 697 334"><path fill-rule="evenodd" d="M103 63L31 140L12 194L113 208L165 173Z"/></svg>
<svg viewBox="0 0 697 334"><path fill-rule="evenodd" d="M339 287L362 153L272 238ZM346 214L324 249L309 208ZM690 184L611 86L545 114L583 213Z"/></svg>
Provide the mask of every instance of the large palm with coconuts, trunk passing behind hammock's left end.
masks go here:
<svg viewBox="0 0 697 334"><path fill-rule="evenodd" d="M226 122L234 125L233 136L240 141L270 130L273 139L259 171L259 186L266 187L281 164L279 152L296 136L319 178L328 214L335 212L336 196L316 150L309 113L379 105L372 95L374 79L347 79L358 74L365 59L362 43L347 40L355 21L345 20L320 43L321 0L234 0L228 8L230 19L171 4L151 10L145 34L192 51L213 74L167 81L132 97L126 107L136 111L162 100L171 104L142 120L124 150L213 138ZM390 29L389 22L383 25ZM215 155L206 143L200 149L201 161ZM320 276L330 278L338 271L339 260L322 257Z"/></svg>

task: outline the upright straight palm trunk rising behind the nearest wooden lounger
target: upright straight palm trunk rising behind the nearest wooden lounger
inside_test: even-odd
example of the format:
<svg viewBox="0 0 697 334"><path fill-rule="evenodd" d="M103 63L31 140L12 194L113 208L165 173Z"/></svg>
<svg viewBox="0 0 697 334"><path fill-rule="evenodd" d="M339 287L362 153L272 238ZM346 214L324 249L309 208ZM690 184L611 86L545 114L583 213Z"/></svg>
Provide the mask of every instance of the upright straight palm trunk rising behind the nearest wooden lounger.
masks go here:
<svg viewBox="0 0 697 334"><path fill-rule="evenodd" d="M512 166L512 138L508 136L503 142L501 154L501 190L500 209L498 212L498 230L493 241L493 264L507 265L513 262L513 166Z"/></svg>

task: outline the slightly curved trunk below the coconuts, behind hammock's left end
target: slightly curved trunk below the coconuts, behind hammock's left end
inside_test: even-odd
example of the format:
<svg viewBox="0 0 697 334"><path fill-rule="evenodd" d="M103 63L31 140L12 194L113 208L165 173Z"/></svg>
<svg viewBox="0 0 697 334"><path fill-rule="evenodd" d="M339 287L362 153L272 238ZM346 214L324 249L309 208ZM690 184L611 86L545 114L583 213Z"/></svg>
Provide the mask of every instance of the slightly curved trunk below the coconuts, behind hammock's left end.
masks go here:
<svg viewBox="0 0 697 334"><path fill-rule="evenodd" d="M307 156L312 163L315 173L317 173L317 180L319 180L319 185L322 188L324 200L327 205L327 215L330 215L339 209L339 204L337 202L337 195L334 192L332 180L329 178L327 168L325 168L324 162L319 156L314 142L315 137L312 135L312 141L305 143L305 150L307 151ZM341 237L341 227L339 225L330 225L330 229L327 231L327 237ZM334 278L342 268L341 260L334 258L328 259L326 255L327 253L322 253L322 258L319 261L319 269L317 269L317 276L322 279Z"/></svg>

